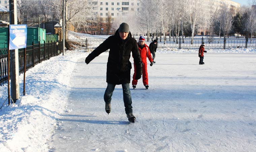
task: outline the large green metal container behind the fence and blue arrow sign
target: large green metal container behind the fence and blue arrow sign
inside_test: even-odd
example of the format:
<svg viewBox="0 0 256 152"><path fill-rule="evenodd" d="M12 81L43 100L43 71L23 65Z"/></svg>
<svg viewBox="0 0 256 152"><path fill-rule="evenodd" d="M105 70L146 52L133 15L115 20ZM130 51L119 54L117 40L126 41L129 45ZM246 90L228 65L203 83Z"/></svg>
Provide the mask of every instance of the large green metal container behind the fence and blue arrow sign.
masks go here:
<svg viewBox="0 0 256 152"><path fill-rule="evenodd" d="M8 27L0 27L0 49L8 48ZM27 46L38 44L38 42L44 43L46 41L45 29L36 28L36 27L27 27Z"/></svg>

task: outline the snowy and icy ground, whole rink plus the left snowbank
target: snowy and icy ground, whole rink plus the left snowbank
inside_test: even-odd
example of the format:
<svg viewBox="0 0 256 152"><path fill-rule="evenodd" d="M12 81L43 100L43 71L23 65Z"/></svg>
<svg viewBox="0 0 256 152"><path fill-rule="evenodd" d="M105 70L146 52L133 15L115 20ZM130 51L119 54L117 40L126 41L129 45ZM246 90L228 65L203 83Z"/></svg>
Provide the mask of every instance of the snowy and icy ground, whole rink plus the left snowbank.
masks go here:
<svg viewBox="0 0 256 152"><path fill-rule="evenodd" d="M0 152L256 151L256 49L206 50L205 65L197 49L157 50L150 88L131 89L134 124L120 85L104 110L107 52L88 65L84 50L37 64L27 95L0 110ZM6 98L7 84L0 106Z"/></svg>

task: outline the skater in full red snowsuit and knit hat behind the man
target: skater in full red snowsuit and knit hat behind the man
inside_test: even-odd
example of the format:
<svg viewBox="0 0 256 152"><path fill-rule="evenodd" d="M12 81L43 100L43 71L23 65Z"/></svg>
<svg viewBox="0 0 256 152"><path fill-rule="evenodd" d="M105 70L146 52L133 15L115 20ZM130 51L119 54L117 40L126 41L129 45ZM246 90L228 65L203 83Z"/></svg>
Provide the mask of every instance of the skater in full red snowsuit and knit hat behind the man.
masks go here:
<svg viewBox="0 0 256 152"><path fill-rule="evenodd" d="M138 42L138 48L139 53L141 56L141 62L142 62L142 81L146 89L149 88L149 79L148 79L148 70L147 70L147 58L150 61L150 66L153 65L153 59L149 50L149 47L147 44L145 44L145 37L140 36L139 42ZM138 80L135 79L136 76L136 66L134 64L134 74L133 74L133 80L132 80L132 87L136 88Z"/></svg>

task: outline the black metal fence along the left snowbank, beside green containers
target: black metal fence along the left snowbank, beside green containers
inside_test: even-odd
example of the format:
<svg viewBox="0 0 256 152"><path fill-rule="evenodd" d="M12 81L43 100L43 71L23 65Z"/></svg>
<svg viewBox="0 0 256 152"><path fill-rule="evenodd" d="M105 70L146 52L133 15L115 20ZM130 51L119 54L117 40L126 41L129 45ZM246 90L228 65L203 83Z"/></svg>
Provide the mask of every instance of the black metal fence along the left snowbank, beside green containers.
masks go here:
<svg viewBox="0 0 256 152"><path fill-rule="evenodd" d="M63 49L62 42L51 42L43 44L32 44L26 48L26 71L36 64L48 60L53 56L59 55L60 50ZM0 49L0 52L6 52L0 55L0 84L7 83L7 51L8 49ZM19 49L19 72L20 74L24 72L24 55L25 48Z"/></svg>

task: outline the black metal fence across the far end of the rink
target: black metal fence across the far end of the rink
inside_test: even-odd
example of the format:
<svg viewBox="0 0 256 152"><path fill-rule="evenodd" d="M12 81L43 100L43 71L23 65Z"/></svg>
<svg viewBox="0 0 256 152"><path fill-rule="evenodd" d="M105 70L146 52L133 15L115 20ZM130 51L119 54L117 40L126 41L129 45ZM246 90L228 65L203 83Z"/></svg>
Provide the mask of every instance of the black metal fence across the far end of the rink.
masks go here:
<svg viewBox="0 0 256 152"><path fill-rule="evenodd" d="M67 40L71 49L90 49L98 47L105 39L85 39L85 40ZM138 40L138 39L137 39ZM153 39L145 41L149 45ZM248 38L194 38L191 42L191 38L157 38L158 48L198 48L202 42L204 42L207 48L234 48L234 47L256 47L256 39Z"/></svg>

